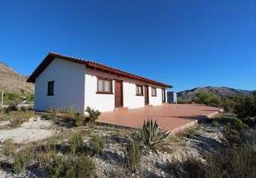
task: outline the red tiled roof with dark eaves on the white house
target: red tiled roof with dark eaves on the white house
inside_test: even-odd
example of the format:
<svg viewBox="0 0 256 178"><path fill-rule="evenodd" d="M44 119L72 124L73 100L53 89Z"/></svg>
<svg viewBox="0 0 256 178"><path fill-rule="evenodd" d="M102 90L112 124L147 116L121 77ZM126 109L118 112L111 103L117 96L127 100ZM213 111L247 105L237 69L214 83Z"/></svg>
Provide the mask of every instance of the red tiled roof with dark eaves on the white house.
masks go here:
<svg viewBox="0 0 256 178"><path fill-rule="evenodd" d="M35 83L36 82L36 77L39 76L40 73L42 73L42 71L45 70L45 68L48 65L50 65L50 62L52 62L53 59L55 59L55 58L63 59L63 60L70 61L70 62L76 62L76 63L79 63L81 65L85 65L86 67L91 68L93 70L100 70L100 71L103 71L103 72L106 72L106 73L112 73L112 74L115 74L115 75L118 75L118 76L124 76L124 77L130 78L130 79L137 79L137 80L140 80L142 82L148 82L150 84L160 85L164 88L172 88L171 85L167 85L167 84L164 84L164 83L161 83L161 82L157 82L157 81L154 81L152 79L146 79L142 76L137 76L137 75L134 75L134 74L131 74L131 73L127 73L127 72L124 72L122 70L118 70L118 69L113 68L113 67L108 67L106 65L101 65L99 63L92 62L92 61L89 61L89 60L78 59L78 58L74 58L74 57L70 57L70 56L63 56L63 55L58 54L58 53L49 53L45 57L45 59L41 62L41 64L36 68L36 70L33 71L33 73L27 79L27 82Z"/></svg>

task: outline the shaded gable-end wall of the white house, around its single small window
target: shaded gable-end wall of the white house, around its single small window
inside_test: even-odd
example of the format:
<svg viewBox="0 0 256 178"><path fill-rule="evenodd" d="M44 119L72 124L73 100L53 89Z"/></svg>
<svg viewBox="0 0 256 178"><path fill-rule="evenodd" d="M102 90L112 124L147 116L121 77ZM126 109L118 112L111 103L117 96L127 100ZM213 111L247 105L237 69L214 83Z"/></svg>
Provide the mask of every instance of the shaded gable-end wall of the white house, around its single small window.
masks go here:
<svg viewBox="0 0 256 178"><path fill-rule="evenodd" d="M47 82L54 81L54 96L47 96ZM53 59L36 78L35 109L46 111L50 107L68 108L84 112L85 66L62 59Z"/></svg>

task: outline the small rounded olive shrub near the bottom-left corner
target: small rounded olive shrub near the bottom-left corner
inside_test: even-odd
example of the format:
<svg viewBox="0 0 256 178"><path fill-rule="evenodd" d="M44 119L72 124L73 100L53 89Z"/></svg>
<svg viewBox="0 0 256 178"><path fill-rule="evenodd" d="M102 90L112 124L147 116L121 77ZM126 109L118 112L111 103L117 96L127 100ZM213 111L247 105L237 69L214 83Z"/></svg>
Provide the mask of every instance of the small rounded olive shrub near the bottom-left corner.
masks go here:
<svg viewBox="0 0 256 178"><path fill-rule="evenodd" d="M34 154L31 148L26 148L22 151L19 151L14 156L13 161L13 170L16 173L24 171L25 168L29 165L30 161L33 160Z"/></svg>

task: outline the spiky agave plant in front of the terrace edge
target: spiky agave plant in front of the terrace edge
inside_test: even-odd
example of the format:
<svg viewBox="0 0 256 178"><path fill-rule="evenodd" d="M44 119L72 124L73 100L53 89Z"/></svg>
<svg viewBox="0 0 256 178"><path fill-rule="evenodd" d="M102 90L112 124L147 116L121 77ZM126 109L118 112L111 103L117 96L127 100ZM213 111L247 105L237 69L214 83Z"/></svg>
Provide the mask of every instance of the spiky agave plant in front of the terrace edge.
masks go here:
<svg viewBox="0 0 256 178"><path fill-rule="evenodd" d="M159 142L162 142L170 132L160 131L160 128L157 125L157 121L153 122L153 120L144 121L142 129L139 131L140 136L144 140L145 145L155 145Z"/></svg>

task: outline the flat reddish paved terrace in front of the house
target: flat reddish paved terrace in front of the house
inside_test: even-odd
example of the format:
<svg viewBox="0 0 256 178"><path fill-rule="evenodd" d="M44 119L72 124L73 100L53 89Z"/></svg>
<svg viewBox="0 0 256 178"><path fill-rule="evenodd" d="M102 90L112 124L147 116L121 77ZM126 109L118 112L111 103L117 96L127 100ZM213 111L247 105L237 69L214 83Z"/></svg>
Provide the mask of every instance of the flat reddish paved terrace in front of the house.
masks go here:
<svg viewBox="0 0 256 178"><path fill-rule="evenodd" d="M127 128L142 128L144 120L157 120L163 131L178 131L188 125L220 112L220 108L206 105L160 105L131 109L128 111L104 112L96 122Z"/></svg>

